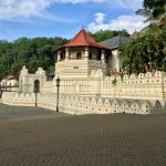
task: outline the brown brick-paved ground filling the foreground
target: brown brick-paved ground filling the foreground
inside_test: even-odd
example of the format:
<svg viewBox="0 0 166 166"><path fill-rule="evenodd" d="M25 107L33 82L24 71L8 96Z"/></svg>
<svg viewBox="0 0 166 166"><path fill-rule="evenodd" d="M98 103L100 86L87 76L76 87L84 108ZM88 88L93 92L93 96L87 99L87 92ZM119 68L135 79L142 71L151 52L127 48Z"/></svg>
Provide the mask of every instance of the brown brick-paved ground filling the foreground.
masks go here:
<svg viewBox="0 0 166 166"><path fill-rule="evenodd" d="M9 120L0 121L0 166L166 166L166 115Z"/></svg>

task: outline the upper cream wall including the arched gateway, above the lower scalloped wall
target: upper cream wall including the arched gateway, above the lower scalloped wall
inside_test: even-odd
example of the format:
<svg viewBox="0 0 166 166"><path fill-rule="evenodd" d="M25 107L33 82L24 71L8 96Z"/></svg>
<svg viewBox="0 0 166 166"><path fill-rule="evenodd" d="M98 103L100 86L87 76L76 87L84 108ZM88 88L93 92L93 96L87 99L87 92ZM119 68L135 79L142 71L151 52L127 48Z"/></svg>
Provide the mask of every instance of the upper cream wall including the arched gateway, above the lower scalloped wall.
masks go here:
<svg viewBox="0 0 166 166"><path fill-rule="evenodd" d="M91 75L86 75L86 77L81 76L81 74L74 77L74 75L70 74L69 69L65 70L69 72L68 76L63 75L64 72L62 72L62 75L59 75L61 79L61 94L116 98L166 98L165 72L157 71L155 73L139 73L138 75L124 74L105 76L104 69L96 69L92 70ZM59 72L56 71L56 73ZM45 72L40 68L35 74L29 74L25 68L22 69L20 74L20 92L33 93L35 80L40 81L41 93L56 92L56 77L53 81L46 81Z"/></svg>

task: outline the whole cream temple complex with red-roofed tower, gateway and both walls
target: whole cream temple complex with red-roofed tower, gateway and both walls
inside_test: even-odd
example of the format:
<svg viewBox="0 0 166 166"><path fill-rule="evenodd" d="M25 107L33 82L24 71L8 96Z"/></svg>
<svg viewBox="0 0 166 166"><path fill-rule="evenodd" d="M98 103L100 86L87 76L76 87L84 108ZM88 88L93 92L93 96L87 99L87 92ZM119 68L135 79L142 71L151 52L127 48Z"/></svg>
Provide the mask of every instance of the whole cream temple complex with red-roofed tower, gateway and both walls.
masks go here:
<svg viewBox="0 0 166 166"><path fill-rule="evenodd" d="M125 40L117 37L114 41L121 44ZM111 43L110 40L97 43L82 29L69 43L55 49L53 81L46 80L42 68L30 74L23 66L19 92L3 93L2 103L54 111L59 107L70 114L165 113L166 73L120 75L123 63L120 45ZM107 70L116 74L110 76Z"/></svg>

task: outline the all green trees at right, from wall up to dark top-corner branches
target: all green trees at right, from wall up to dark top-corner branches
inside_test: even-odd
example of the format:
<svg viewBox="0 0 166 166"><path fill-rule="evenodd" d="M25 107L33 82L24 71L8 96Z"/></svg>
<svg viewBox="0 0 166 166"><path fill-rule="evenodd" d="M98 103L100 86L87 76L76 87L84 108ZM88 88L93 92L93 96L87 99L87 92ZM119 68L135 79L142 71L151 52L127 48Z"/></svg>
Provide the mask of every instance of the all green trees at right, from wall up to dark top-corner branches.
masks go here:
<svg viewBox="0 0 166 166"><path fill-rule="evenodd" d="M166 1L144 0L143 7L137 13L146 15L151 23L138 39L121 50L123 69L139 73L145 72L145 64L149 64L149 70L166 71Z"/></svg>

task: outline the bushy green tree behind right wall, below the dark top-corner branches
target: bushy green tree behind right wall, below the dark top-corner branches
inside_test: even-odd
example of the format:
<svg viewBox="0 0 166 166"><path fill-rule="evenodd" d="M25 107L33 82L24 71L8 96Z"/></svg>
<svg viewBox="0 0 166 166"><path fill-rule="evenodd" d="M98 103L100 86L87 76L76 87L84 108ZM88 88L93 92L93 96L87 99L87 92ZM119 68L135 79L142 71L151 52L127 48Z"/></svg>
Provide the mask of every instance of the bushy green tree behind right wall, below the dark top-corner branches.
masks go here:
<svg viewBox="0 0 166 166"><path fill-rule="evenodd" d="M149 70L166 71L166 29L151 25L145 34L129 41L122 50L124 56L123 69L129 73L145 72L145 64Z"/></svg>

